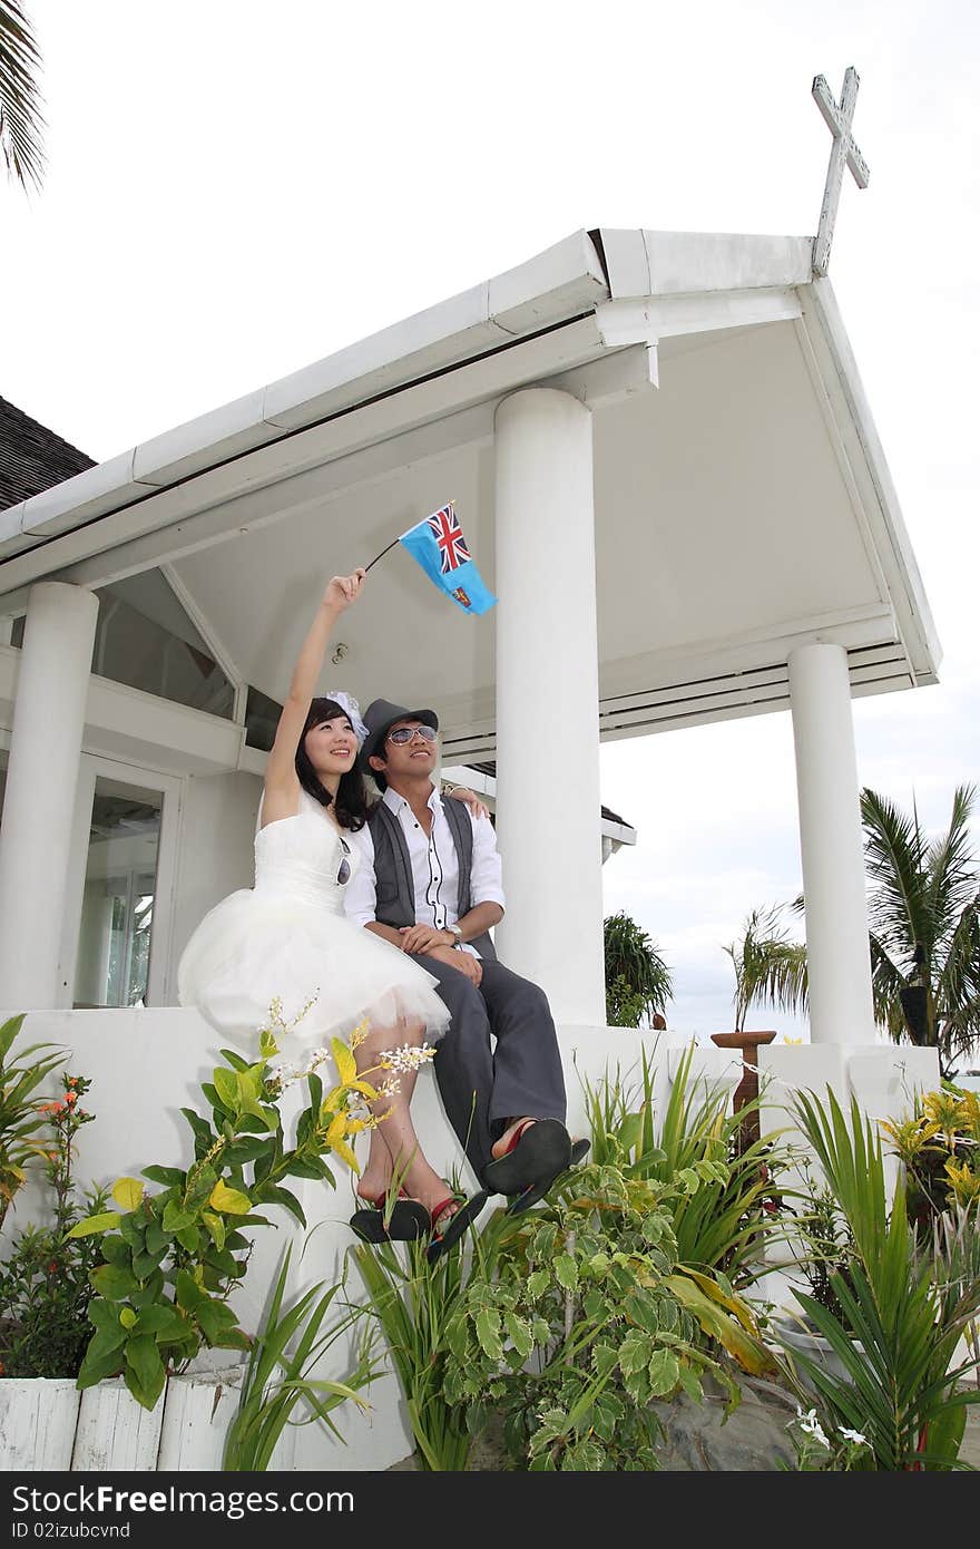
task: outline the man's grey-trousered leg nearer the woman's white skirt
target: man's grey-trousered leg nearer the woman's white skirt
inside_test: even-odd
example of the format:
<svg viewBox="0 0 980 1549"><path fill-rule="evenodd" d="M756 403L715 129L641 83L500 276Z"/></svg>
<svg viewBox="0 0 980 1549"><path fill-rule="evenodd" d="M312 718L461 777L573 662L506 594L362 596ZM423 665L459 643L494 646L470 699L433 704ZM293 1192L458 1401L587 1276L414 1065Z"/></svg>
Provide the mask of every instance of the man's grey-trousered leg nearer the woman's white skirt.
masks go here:
<svg viewBox="0 0 980 1549"><path fill-rule="evenodd" d="M435 1080L446 1117L481 1180L491 1159L489 1103L494 1090L486 1005L480 990L458 968L421 953L409 953L409 957L438 979L438 994L452 1013L447 1032L435 1046ZM485 963L485 971L488 967Z"/></svg>

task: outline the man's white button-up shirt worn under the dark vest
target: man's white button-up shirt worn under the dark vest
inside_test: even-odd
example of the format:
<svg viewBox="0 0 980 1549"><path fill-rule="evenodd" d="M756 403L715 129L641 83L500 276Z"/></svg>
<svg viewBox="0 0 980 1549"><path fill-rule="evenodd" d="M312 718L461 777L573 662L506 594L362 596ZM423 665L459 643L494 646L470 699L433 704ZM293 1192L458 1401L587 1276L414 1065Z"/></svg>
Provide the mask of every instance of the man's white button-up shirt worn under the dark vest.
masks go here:
<svg viewBox="0 0 980 1549"><path fill-rule="evenodd" d="M447 925L458 920L457 902L460 884L460 866L457 847L452 843L452 829L443 812L443 799L433 787L429 796L432 827L426 833L421 823L412 812L404 796L389 788L384 793L384 804L395 813L401 824L409 860L412 861L412 883L415 888L415 923L432 925L437 931L444 931ZM452 801L452 796L446 798ZM469 905L499 903L503 908L503 867L497 850L497 835L489 818L474 818L466 809L474 830L474 852L469 867ZM375 841L365 826L358 833L350 835L350 841L361 852L361 864L347 884L344 895L344 912L355 925L370 925L376 919L378 902L375 883ZM463 951L474 957L480 953L469 942Z"/></svg>

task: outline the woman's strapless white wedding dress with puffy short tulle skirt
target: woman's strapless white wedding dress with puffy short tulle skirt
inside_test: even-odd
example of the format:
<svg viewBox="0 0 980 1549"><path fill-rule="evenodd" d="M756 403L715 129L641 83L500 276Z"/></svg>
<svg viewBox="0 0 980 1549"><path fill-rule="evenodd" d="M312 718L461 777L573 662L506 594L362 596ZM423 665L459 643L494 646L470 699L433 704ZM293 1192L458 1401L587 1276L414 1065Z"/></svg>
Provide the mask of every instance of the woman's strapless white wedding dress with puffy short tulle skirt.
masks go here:
<svg viewBox="0 0 980 1549"><path fill-rule="evenodd" d="M356 844L300 790L296 816L255 833L255 886L215 905L187 942L176 971L180 1004L197 1005L255 1058L276 998L286 1022L313 1002L280 1044L283 1055L344 1038L365 1016L392 1029L399 1019L421 1021L433 1042L449 1025L438 981L344 917L344 858L353 875Z"/></svg>

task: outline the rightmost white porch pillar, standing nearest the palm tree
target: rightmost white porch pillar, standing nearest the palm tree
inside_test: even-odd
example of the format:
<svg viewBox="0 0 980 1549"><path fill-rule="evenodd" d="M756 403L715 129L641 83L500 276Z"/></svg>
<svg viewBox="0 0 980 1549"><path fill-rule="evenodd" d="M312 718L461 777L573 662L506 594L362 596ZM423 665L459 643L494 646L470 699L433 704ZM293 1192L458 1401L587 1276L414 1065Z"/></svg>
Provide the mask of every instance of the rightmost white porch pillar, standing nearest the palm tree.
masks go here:
<svg viewBox="0 0 980 1549"><path fill-rule="evenodd" d="M872 1044L872 965L864 881L858 761L842 646L790 655L790 703L800 813L810 1038Z"/></svg>

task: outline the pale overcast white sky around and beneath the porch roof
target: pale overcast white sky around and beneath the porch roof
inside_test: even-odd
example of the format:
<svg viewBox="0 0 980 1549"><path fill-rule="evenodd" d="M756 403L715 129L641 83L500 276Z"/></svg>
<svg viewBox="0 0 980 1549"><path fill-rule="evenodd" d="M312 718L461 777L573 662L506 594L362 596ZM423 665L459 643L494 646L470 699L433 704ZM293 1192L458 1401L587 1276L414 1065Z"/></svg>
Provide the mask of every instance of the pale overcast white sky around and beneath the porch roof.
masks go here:
<svg viewBox="0 0 980 1549"><path fill-rule="evenodd" d="M26 9L48 173L0 177L0 393L98 460L579 228L811 235L810 85L853 65L872 177L830 279L943 647L937 686L855 702L858 779L946 826L980 776L975 3ZM790 714L607 744L602 799L638 830L605 911L669 962L669 1025L731 1029L725 945L802 888Z"/></svg>

